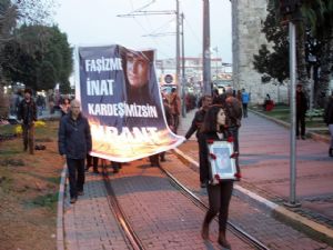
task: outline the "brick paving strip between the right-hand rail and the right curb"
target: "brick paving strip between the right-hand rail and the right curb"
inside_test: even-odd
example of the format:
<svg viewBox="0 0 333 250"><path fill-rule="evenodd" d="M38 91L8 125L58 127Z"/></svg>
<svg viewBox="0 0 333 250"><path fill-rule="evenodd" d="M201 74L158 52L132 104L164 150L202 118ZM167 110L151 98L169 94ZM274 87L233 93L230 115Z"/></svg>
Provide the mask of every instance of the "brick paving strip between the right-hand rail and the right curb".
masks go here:
<svg viewBox="0 0 333 250"><path fill-rule="evenodd" d="M208 203L205 189L199 188L198 172L182 164L173 154L168 154L168 162L163 167ZM270 249L333 249L274 219L270 210L258 202L244 199L236 190L231 200L230 221Z"/></svg>

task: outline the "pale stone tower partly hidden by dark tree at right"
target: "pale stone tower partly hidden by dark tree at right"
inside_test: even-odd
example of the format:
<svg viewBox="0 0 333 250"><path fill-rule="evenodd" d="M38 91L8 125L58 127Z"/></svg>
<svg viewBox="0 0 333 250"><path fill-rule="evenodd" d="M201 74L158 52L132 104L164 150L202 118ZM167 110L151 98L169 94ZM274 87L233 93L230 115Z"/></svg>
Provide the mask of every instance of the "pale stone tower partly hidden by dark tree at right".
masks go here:
<svg viewBox="0 0 333 250"><path fill-rule="evenodd" d="M266 93L276 101L285 101L286 89L272 83L263 84L253 68L253 54L268 43L261 32L268 11L268 0L231 0L233 86L251 93L252 103L263 102Z"/></svg>

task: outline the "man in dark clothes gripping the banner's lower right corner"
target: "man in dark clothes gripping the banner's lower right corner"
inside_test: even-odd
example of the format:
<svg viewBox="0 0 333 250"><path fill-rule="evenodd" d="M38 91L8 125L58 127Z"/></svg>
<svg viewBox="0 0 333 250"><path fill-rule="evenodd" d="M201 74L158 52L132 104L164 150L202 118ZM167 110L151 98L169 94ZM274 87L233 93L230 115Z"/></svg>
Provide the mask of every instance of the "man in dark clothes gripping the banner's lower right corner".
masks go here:
<svg viewBox="0 0 333 250"><path fill-rule="evenodd" d="M200 133L200 129L201 126L203 123L204 120L204 116L208 111L208 109L210 108L210 106L212 104L212 97L206 94L203 96L202 98L202 107L195 112L194 118L192 120L191 127L189 128L185 138L186 140L190 139L190 137L192 137L192 134L195 132L196 136L196 140L199 140L199 133ZM199 152L199 158L201 157L200 152ZM204 169L202 169L200 167L200 187L201 188L205 188L206 187L206 182L204 177Z"/></svg>

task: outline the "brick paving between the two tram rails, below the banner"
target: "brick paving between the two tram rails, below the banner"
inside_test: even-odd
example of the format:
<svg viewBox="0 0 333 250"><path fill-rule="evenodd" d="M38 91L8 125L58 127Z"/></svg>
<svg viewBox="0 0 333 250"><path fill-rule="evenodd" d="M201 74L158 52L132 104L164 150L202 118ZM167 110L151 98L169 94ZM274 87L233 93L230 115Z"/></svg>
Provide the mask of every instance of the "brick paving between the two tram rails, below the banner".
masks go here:
<svg viewBox="0 0 333 250"><path fill-rule="evenodd" d="M218 223L211 226L211 242L204 242L200 236L204 211L147 160L123 167L112 177L111 184L147 249L220 249ZM228 237L233 249L251 249L235 236Z"/></svg>

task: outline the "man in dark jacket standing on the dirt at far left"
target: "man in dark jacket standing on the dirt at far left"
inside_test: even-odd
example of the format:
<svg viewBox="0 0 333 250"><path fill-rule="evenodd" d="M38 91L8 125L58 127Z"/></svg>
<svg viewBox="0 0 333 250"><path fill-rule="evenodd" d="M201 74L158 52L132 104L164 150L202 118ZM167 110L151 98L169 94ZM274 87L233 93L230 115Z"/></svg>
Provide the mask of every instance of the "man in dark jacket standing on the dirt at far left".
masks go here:
<svg viewBox="0 0 333 250"><path fill-rule="evenodd" d="M32 99L31 89L24 90L24 99L20 102L18 109L18 120L22 120L23 146L24 151L28 150L33 154L33 137L34 137L34 121L37 121L37 108Z"/></svg>

